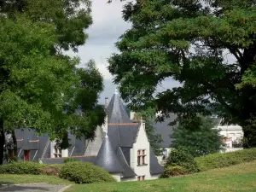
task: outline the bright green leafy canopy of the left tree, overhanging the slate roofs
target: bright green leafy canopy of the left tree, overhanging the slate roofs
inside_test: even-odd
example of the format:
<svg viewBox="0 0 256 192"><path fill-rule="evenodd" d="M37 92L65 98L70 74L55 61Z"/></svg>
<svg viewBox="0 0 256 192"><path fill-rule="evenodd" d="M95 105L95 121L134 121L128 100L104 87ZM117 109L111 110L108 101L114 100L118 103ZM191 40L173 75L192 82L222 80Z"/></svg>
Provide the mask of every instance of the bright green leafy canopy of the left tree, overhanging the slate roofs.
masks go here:
<svg viewBox="0 0 256 192"><path fill-rule="evenodd" d="M77 137L94 137L96 125L104 120L103 109L96 105L103 84L95 63L78 69L77 58L51 55L57 42L51 24L32 22L22 15L15 21L0 20L4 130L26 127L52 138L63 137L67 131Z"/></svg>

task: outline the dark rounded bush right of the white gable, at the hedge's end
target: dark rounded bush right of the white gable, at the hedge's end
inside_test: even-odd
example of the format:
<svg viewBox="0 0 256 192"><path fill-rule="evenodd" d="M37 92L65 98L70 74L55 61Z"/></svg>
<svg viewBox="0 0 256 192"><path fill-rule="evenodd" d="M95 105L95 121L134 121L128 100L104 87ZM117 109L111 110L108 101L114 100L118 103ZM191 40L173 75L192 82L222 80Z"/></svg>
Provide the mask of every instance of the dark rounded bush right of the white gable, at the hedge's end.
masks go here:
<svg viewBox="0 0 256 192"><path fill-rule="evenodd" d="M168 166L181 166L185 173L198 172L194 157L184 148L172 149L170 156L166 160L166 168Z"/></svg>

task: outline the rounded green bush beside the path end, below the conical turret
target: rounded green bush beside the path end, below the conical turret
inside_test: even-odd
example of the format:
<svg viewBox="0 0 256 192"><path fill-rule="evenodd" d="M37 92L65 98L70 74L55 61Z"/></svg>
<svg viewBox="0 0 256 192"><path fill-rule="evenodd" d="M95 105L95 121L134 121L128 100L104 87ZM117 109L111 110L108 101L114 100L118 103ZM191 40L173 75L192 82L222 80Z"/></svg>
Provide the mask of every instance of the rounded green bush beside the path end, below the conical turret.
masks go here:
<svg viewBox="0 0 256 192"><path fill-rule="evenodd" d="M99 166L91 163L68 162L61 168L60 177L75 183L113 182L115 179Z"/></svg>

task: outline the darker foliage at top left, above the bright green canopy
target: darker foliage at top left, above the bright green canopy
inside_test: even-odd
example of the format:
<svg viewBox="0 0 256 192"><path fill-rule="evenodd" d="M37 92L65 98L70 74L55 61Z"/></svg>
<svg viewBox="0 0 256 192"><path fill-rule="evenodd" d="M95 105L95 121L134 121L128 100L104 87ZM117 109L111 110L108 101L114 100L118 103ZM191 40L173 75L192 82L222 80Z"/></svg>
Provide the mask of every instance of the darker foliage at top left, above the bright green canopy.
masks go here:
<svg viewBox="0 0 256 192"><path fill-rule="evenodd" d="M14 18L16 13L22 13L29 20L44 21L55 26L58 47L73 50L83 45L88 37L84 30L92 23L90 7L90 0L3 0L0 2L0 12L8 15L9 18Z"/></svg>

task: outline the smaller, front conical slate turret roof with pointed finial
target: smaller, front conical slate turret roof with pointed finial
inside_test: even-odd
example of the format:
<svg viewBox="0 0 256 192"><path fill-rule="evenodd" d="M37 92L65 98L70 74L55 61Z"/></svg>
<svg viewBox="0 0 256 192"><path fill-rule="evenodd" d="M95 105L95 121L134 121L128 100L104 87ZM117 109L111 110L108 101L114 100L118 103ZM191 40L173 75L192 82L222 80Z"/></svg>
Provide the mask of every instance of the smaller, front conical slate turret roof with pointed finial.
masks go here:
<svg viewBox="0 0 256 192"><path fill-rule="evenodd" d="M101 166L108 172L123 172L123 168L119 164L119 160L110 143L108 134L106 135L100 151L97 154L95 165Z"/></svg>

